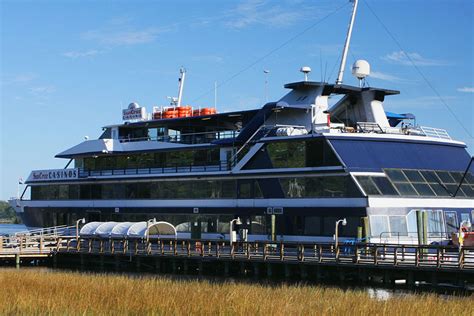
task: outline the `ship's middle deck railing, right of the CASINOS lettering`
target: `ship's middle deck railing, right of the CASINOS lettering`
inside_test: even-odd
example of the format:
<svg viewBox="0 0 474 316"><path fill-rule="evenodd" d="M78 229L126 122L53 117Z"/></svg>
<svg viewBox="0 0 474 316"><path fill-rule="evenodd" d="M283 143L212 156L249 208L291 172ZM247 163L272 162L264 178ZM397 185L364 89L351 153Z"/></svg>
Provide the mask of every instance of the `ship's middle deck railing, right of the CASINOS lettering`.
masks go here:
<svg viewBox="0 0 474 316"><path fill-rule="evenodd" d="M183 165L183 164L166 164L161 167L149 168L114 168L104 170L87 170L79 169L79 177L101 177L101 176L117 176L117 175L147 175L147 174L167 174L167 173L191 173L191 172L218 172L228 171L230 165L227 161L220 161L209 165Z"/></svg>

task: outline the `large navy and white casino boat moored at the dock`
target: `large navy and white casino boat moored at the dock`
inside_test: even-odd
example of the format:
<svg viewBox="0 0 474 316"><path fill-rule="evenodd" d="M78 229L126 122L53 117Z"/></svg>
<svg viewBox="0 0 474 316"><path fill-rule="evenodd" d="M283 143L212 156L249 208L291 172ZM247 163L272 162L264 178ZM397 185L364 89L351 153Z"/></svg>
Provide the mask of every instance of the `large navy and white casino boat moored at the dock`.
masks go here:
<svg viewBox="0 0 474 316"><path fill-rule="evenodd" d="M56 155L61 170L32 171L12 200L28 227L87 222L170 223L183 238L446 242L474 220L472 158L445 130L389 113L398 91L369 87L369 65L342 83L357 1L335 84L305 79L254 110L216 113L178 98ZM339 97L329 106L329 98ZM345 220L342 220L345 219ZM342 221L341 221L342 220ZM346 225L339 225L343 223Z"/></svg>

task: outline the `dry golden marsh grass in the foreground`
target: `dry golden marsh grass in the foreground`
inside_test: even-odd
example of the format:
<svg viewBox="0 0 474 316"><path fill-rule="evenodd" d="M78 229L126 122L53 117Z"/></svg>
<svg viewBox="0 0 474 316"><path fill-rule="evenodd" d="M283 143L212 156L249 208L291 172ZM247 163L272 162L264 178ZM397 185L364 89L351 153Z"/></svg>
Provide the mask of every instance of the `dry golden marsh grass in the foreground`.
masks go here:
<svg viewBox="0 0 474 316"><path fill-rule="evenodd" d="M473 315L470 297L385 301L366 291L171 280L153 276L0 270L0 315Z"/></svg>

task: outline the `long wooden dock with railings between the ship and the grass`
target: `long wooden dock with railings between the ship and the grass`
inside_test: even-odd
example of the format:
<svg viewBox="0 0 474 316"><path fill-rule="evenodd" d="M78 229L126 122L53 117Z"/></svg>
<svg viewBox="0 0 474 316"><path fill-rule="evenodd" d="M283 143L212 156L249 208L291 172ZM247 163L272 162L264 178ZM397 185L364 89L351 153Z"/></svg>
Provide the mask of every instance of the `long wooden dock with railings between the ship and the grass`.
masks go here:
<svg viewBox="0 0 474 316"><path fill-rule="evenodd" d="M0 262L47 258L54 267L100 271L474 286L474 247L224 240L23 237L3 241ZM13 246L12 246L13 245Z"/></svg>

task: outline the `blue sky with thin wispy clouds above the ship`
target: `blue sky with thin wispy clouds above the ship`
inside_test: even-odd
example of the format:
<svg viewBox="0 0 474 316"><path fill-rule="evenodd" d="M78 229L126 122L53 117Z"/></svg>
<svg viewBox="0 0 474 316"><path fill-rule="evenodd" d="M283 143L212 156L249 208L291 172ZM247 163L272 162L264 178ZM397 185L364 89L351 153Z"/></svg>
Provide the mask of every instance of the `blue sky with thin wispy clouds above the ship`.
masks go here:
<svg viewBox="0 0 474 316"><path fill-rule="evenodd" d="M55 154L120 122L131 101L166 105L180 66L184 102L212 105L217 81L221 112L260 107L264 69L269 100L302 79L303 65L334 82L350 11L347 0L0 0L0 199L32 169L64 167ZM473 20L471 0L360 0L344 83L357 84L350 65L368 60L371 86L401 91L386 110L472 148Z"/></svg>

